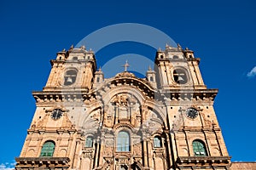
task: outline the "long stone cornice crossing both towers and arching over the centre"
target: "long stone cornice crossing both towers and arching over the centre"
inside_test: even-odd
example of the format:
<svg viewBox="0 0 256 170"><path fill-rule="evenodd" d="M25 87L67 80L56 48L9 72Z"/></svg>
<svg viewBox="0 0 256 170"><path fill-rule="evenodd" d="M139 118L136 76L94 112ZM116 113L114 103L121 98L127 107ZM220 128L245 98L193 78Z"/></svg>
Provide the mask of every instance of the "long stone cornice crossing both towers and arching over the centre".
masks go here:
<svg viewBox="0 0 256 170"><path fill-rule="evenodd" d="M88 92L88 90L73 90L61 89L56 91L42 91L32 92L32 95L36 99L37 103L49 103L49 102L84 102L85 100L96 100L97 95L106 93L108 89L119 86L131 86L131 88L139 88L141 92L148 96L149 99L161 100L163 97L166 100L166 104L175 103L179 101L214 101L218 94L218 89L172 89L155 91L154 89L146 86L142 82L131 83L124 79L114 80L111 83L105 84L102 88Z"/></svg>

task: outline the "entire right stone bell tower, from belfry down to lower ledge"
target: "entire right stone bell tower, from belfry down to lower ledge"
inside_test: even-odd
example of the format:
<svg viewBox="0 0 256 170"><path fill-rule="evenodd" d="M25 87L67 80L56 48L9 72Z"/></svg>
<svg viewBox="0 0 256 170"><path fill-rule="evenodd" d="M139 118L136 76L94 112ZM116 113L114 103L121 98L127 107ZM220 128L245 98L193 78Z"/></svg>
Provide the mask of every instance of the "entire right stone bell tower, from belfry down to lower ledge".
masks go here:
<svg viewBox="0 0 256 170"><path fill-rule="evenodd" d="M172 159L178 169L229 169L230 156L213 109L218 89L204 84L200 59L189 48L158 50L154 71L165 96Z"/></svg>

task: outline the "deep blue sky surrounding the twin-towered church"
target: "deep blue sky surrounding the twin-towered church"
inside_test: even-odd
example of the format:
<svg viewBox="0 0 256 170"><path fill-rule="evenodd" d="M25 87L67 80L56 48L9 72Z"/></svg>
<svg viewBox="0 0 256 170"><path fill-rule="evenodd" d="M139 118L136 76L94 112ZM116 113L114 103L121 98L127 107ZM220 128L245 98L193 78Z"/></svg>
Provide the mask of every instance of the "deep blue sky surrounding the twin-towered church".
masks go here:
<svg viewBox="0 0 256 170"><path fill-rule="evenodd" d="M127 22L153 26L195 51L207 87L219 89L215 111L232 161L256 161L253 0L1 1L0 169L20 155L35 111L31 93L44 87L49 59L92 31ZM154 58L152 48L119 42L99 51L97 61L124 52Z"/></svg>

